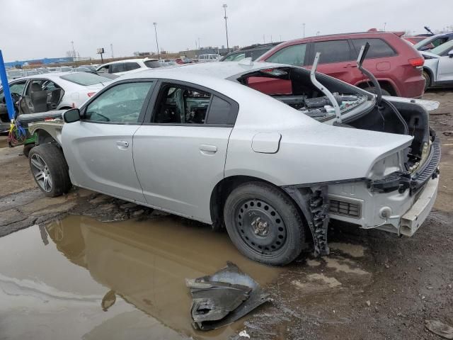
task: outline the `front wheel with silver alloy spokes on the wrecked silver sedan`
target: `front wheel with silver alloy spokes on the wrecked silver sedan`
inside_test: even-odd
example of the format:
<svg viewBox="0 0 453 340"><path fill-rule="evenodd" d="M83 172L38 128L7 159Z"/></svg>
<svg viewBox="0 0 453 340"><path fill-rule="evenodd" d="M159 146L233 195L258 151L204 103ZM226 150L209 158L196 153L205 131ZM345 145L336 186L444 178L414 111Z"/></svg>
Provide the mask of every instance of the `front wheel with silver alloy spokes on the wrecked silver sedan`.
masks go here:
<svg viewBox="0 0 453 340"><path fill-rule="evenodd" d="M57 197L69 191L72 185L68 164L59 147L50 143L37 145L28 156L33 178L45 196Z"/></svg>

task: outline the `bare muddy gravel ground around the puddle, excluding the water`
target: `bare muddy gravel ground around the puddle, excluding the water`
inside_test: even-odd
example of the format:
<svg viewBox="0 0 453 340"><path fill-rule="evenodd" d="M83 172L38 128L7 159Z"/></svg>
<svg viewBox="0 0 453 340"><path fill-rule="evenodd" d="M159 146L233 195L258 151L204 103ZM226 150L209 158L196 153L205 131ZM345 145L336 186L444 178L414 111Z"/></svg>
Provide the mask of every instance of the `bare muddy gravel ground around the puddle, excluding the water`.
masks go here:
<svg viewBox="0 0 453 340"><path fill-rule="evenodd" d="M428 220L411 238L332 225L330 256L304 256L268 285L273 302L245 322L252 339L441 339L425 330L425 319L453 325L453 92L424 98L440 101L430 123L442 140L440 188ZM151 213L85 190L44 198L20 152L0 148L0 237L68 212L103 221Z"/></svg>

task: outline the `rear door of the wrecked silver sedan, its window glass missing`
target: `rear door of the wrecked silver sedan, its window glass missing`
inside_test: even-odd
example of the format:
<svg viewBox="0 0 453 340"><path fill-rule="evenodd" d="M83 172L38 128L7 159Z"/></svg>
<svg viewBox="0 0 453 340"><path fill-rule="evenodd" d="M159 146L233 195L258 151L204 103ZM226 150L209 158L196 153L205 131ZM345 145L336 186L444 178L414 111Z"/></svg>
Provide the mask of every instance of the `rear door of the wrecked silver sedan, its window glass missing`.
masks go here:
<svg viewBox="0 0 453 340"><path fill-rule="evenodd" d="M224 177L239 106L221 94L162 82L154 108L134 135L134 164L151 206L210 222L210 197Z"/></svg>

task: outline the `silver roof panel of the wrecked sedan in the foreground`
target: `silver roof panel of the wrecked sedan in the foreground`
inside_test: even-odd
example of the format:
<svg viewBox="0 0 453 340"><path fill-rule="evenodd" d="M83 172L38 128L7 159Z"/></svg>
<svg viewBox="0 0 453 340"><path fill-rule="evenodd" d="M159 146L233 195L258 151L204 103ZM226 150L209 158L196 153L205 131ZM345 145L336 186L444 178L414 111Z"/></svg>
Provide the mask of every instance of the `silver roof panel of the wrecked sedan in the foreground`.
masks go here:
<svg viewBox="0 0 453 340"><path fill-rule="evenodd" d="M249 58L247 58L245 61L247 61L248 59ZM259 69L269 69L273 67L291 66L284 64L274 64L270 62L251 62L250 64L247 64L247 62L244 62L244 60L241 60L241 62L206 62L201 64L189 64L180 67L147 69L134 74L125 74L118 80L139 78L175 79L178 77L178 75L184 75L184 78L193 75L194 77L203 76L212 79L228 79L230 77L236 76L237 74L253 72Z"/></svg>

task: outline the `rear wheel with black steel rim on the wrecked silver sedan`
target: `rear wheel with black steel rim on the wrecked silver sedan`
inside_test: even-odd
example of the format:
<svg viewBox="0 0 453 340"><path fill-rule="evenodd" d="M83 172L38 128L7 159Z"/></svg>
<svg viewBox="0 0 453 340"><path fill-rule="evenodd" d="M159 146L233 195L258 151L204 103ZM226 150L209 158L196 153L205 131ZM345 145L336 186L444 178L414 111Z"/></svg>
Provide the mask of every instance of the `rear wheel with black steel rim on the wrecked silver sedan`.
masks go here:
<svg viewBox="0 0 453 340"><path fill-rule="evenodd" d="M226 198L226 231L249 259L283 266L301 254L305 228L296 205L278 188L263 182L243 183Z"/></svg>

